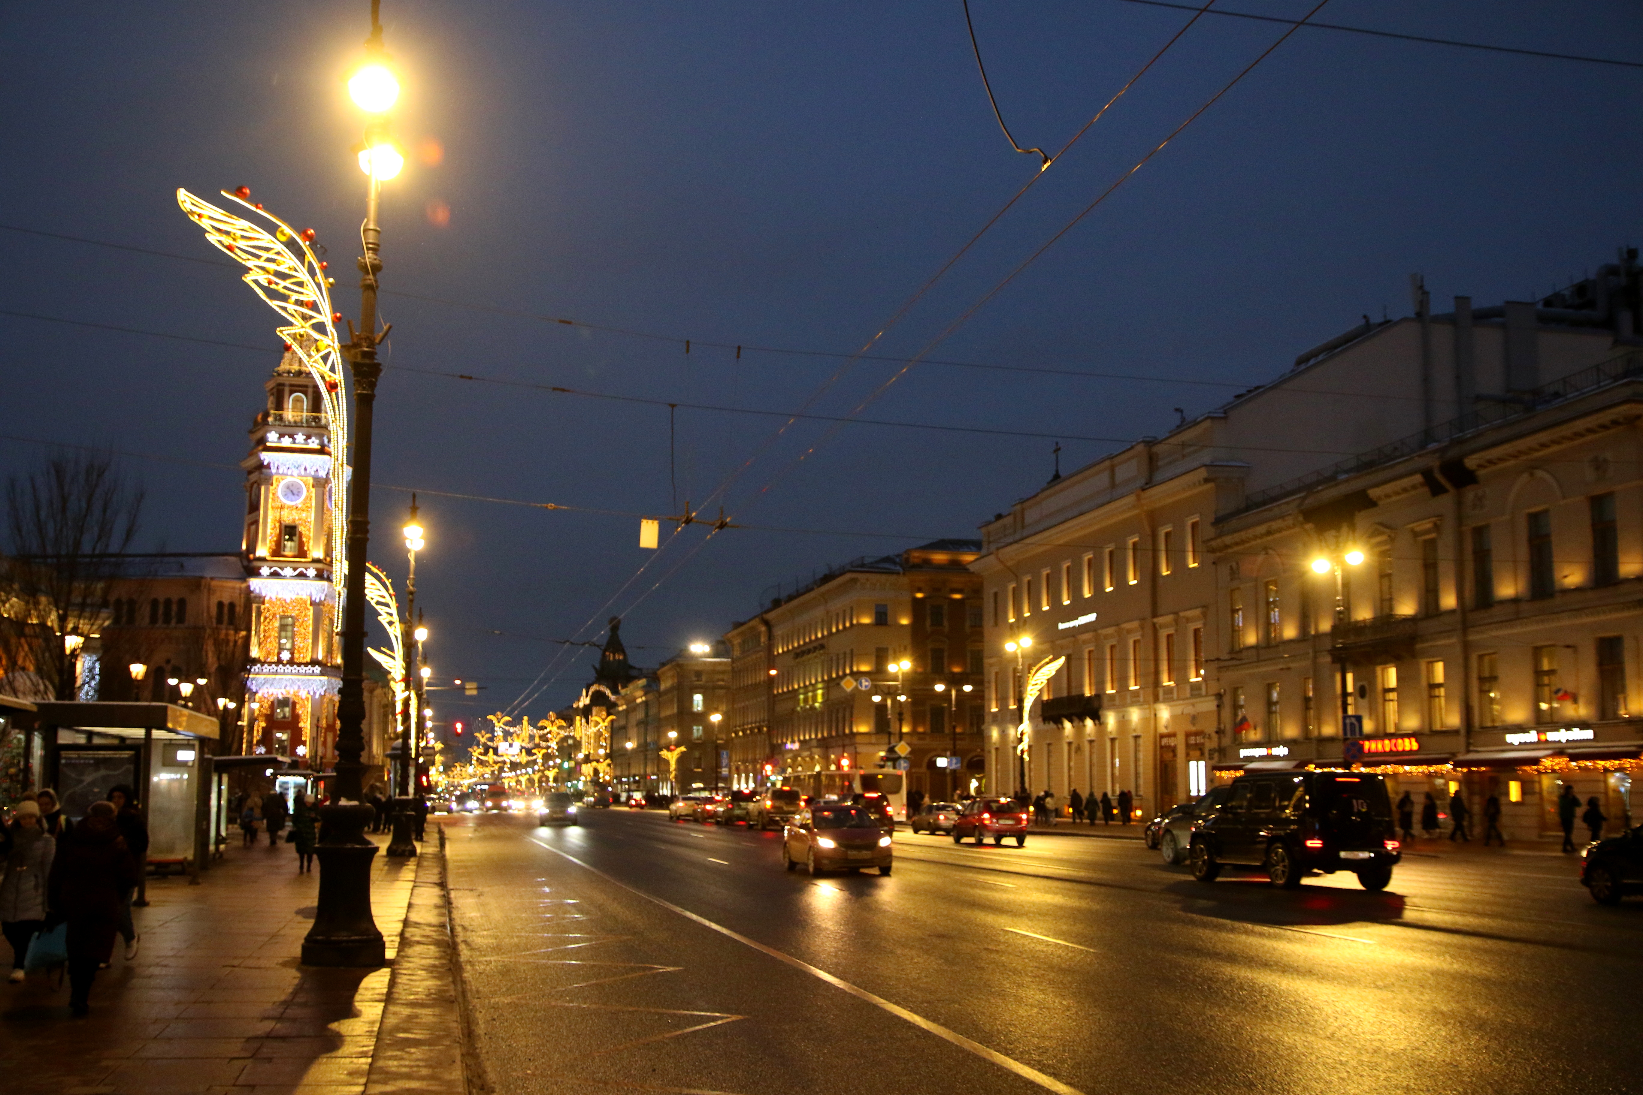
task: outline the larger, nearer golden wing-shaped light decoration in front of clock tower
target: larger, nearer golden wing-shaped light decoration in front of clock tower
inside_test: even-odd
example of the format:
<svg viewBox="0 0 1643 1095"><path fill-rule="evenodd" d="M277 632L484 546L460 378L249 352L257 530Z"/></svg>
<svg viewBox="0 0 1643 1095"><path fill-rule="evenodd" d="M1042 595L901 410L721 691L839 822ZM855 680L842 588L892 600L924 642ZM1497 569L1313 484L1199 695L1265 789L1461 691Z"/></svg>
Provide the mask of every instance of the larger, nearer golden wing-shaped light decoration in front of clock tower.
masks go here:
<svg viewBox="0 0 1643 1095"><path fill-rule="evenodd" d="M334 627L342 629L342 594L348 578L348 384L337 343L325 271L304 233L237 194L222 195L246 212L274 223L274 231L217 208L184 189L177 205L212 246L242 263L242 281L284 320L274 332L284 338L319 383L330 428L330 565L337 586ZM312 233L307 233L312 236Z"/></svg>

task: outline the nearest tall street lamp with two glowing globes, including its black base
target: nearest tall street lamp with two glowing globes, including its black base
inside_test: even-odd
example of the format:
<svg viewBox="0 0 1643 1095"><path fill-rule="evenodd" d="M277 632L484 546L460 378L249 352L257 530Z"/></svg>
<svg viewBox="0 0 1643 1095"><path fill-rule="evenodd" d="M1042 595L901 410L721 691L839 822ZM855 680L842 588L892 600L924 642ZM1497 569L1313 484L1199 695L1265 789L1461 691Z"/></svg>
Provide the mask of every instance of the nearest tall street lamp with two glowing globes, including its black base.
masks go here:
<svg viewBox="0 0 1643 1095"><path fill-rule="evenodd" d="M378 967L384 960L383 932L371 918L371 860L376 844L365 836L371 808L363 798L365 763L365 560L371 538L371 419L376 405L376 381L383 366L376 346L388 328L376 330L376 276L383 269L378 258L381 228L376 223L381 184L404 166L404 158L391 153L386 112L399 95L399 80L388 67L383 49L380 0L371 0L371 33L365 39L366 62L348 82L348 94L368 115L361 156L366 171L365 223L360 241L360 325L343 348L353 373L353 470L348 489L348 550L355 560L347 570L342 619L342 688L337 698L337 777L332 804L320 811L325 837L315 847L319 855L319 903L314 928L302 941L304 965ZM396 163L398 161L398 163Z"/></svg>

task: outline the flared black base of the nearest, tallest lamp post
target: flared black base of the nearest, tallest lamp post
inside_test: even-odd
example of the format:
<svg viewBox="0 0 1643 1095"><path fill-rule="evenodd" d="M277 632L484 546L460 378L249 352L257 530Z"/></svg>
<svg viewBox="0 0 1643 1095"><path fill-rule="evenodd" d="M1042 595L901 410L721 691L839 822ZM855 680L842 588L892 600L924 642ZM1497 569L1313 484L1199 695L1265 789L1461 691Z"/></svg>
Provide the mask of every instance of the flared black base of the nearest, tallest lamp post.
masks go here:
<svg viewBox="0 0 1643 1095"><path fill-rule="evenodd" d="M375 969L386 962L383 932L371 916L371 860L376 844L366 839L370 806L322 806L325 839L319 857L319 908L302 941L302 965Z"/></svg>

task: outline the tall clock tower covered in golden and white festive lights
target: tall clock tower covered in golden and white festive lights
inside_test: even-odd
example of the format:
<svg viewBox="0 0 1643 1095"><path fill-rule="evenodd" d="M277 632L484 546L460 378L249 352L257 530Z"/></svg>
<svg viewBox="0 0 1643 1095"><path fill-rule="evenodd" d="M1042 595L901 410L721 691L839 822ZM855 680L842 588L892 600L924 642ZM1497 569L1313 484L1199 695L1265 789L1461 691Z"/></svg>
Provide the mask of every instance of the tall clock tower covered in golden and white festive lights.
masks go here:
<svg viewBox="0 0 1643 1095"><path fill-rule="evenodd" d="M286 350L263 384L245 468L245 558L251 593L246 752L322 770L342 686L332 581L332 430L314 376Z"/></svg>

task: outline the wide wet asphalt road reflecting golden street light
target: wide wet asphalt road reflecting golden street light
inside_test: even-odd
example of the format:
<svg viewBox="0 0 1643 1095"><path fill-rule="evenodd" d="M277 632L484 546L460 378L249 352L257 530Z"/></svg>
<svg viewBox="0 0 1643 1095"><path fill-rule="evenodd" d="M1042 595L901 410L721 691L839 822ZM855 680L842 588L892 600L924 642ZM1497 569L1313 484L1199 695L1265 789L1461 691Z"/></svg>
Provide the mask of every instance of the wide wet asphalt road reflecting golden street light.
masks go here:
<svg viewBox="0 0 1643 1095"><path fill-rule="evenodd" d="M504 1095L1643 1090L1643 903L1564 857L1282 891L1134 841L897 832L892 877L810 878L779 834L657 813L445 831Z"/></svg>

